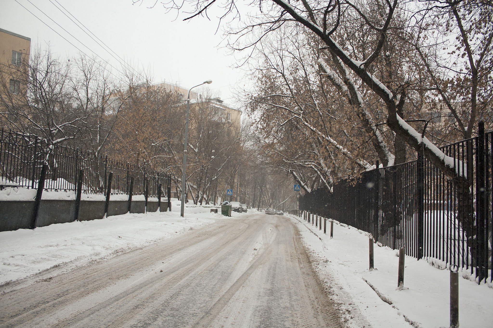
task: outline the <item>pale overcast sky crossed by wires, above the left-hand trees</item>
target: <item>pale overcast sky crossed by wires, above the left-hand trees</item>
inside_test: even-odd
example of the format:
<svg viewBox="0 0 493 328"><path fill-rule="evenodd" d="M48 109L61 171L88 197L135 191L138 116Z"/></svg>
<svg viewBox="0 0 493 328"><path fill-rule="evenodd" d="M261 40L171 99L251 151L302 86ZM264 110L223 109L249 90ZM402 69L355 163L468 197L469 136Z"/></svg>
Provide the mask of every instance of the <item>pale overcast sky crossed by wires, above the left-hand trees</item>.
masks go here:
<svg viewBox="0 0 493 328"><path fill-rule="evenodd" d="M159 1L152 9L147 6L154 1L147 0L140 5L132 2L0 0L0 28L30 37L32 48L36 44L46 47L49 43L53 52L66 58L77 55L77 47L87 55L96 54L120 69L116 59L70 21L67 16L71 14L118 56L141 70L150 71L154 82L166 81L191 88L211 79L213 95L234 103L231 88L242 87L245 82L241 70L230 68L235 63L234 57L217 47L222 41L222 33L216 33L216 19L209 21L198 17L183 22L185 16L175 20L176 13L167 14ZM65 7L67 16L57 6L62 10L62 6Z"/></svg>

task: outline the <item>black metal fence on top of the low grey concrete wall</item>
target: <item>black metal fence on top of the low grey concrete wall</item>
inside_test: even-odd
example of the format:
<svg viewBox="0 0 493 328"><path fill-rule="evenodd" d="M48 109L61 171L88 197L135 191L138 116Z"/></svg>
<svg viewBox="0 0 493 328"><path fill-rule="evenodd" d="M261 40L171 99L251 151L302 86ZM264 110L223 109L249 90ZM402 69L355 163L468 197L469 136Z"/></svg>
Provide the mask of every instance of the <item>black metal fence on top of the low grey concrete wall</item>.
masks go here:
<svg viewBox="0 0 493 328"><path fill-rule="evenodd" d="M128 194L132 178L134 195L157 197L171 187L170 175L161 171L77 148L49 146L34 135L0 131L0 185L36 189L43 165L47 168L44 190L76 191L81 170L84 194L106 194L110 173L111 194Z"/></svg>

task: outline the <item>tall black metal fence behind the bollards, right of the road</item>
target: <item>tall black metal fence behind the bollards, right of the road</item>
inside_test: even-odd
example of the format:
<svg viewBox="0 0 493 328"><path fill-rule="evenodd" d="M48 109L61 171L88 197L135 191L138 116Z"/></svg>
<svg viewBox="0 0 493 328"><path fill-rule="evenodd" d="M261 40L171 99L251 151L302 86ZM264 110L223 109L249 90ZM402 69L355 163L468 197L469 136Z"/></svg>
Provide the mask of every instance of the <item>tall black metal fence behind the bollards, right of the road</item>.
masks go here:
<svg viewBox="0 0 493 328"><path fill-rule="evenodd" d="M466 179L450 179L423 156L374 169L331 192L300 196L300 210L369 232L393 249L418 259L437 259L470 269L478 282L493 280L493 131L441 150Z"/></svg>

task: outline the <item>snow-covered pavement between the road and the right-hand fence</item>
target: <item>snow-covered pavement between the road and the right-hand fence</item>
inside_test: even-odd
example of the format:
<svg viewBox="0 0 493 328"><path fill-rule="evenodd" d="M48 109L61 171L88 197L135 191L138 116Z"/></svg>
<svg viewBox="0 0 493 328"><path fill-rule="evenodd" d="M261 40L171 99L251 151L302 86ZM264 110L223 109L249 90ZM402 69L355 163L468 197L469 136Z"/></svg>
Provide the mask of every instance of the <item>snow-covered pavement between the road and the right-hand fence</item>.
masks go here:
<svg viewBox="0 0 493 328"><path fill-rule="evenodd" d="M398 290L398 251L374 245L374 267L369 270L368 236L355 228L334 224L334 238L289 215L296 221L312 259L332 298L346 310L350 327L364 327L362 315L372 327L438 328L450 325L450 271L425 260L406 256L404 287ZM336 222L336 221L334 221ZM323 221L322 221L323 224ZM464 270L461 275L467 278ZM339 287L330 287L332 285ZM372 287L370 287L370 285ZM380 297L379 295L380 294ZM391 305L381 298L387 299ZM492 284L477 285L459 277L460 327L492 327Z"/></svg>

